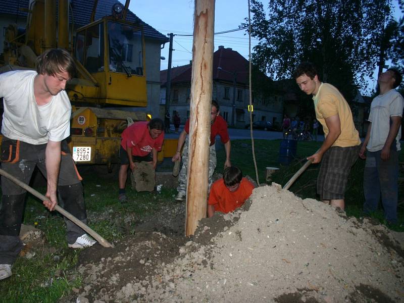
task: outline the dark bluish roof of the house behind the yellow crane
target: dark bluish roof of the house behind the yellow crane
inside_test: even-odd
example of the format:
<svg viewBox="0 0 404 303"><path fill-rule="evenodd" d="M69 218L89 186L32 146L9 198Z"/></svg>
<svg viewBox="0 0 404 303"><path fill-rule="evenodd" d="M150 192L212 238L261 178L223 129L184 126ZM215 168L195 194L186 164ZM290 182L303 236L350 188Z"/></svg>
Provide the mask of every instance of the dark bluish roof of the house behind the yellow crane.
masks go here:
<svg viewBox="0 0 404 303"><path fill-rule="evenodd" d="M28 0L18 0L18 1L10 1L10 0L0 0L0 14L9 14L9 15L19 15L19 16L27 16L26 12L21 12L19 9L28 8ZM118 0L98 0L97 9L95 11L95 20L98 20L104 16L111 15L112 6L115 3L119 3ZM76 26L81 27L90 22L92 7L94 5L94 0L71 0L70 5L72 6L73 11L73 22ZM161 40L162 42L169 41L169 38L143 22L140 18L138 18L131 11L128 11L126 16L126 20L131 22L136 22L139 25L143 26L144 36L150 39ZM70 22L72 18L70 16Z"/></svg>

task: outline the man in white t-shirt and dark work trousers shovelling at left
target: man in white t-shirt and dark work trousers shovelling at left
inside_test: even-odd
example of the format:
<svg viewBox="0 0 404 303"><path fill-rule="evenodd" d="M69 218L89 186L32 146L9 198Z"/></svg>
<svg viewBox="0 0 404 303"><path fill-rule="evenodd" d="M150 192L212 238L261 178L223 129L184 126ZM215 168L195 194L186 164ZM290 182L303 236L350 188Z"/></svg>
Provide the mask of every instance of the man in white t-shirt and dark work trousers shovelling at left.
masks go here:
<svg viewBox="0 0 404 303"><path fill-rule="evenodd" d="M58 203L86 224L81 177L62 141L70 135L71 105L66 82L75 73L73 58L64 49L49 49L37 59L35 71L11 71L0 75L3 97L2 169L28 184L35 167L47 179L43 205L53 211ZM0 280L11 276L11 267L23 245L19 233L26 190L2 176L0 207ZM69 247L95 243L70 220Z"/></svg>

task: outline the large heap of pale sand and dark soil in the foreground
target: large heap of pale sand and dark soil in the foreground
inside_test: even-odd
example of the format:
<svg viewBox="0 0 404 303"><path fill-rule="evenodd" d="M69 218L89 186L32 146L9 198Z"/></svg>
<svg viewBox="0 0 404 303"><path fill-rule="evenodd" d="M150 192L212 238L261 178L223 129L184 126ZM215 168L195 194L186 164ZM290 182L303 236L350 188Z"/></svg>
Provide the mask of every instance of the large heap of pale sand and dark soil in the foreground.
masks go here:
<svg viewBox="0 0 404 303"><path fill-rule="evenodd" d="M250 200L201 220L190 238L176 204L114 249L84 250L84 286L64 301L404 301L403 246L385 227L276 185Z"/></svg>

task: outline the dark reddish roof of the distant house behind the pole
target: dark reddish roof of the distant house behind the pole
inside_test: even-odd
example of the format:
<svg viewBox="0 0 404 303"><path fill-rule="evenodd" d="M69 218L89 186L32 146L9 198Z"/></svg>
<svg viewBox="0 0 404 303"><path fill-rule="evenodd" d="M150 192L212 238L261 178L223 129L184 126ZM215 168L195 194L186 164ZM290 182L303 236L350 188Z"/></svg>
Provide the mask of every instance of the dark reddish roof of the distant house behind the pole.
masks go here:
<svg viewBox="0 0 404 303"><path fill-rule="evenodd" d="M219 70L218 67L222 69ZM171 68L171 83L181 83L191 81L192 65L187 64ZM248 61L231 48L219 46L213 53L213 79L233 83L234 73L239 84L248 84ZM167 82L167 70L160 72L162 84Z"/></svg>

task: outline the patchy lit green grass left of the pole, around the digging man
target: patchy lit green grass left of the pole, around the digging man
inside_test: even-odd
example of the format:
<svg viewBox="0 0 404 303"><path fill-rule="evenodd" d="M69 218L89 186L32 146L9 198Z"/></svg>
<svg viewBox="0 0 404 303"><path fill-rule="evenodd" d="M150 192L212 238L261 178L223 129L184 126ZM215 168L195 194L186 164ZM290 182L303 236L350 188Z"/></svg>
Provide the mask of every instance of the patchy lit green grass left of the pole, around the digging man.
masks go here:
<svg viewBox="0 0 404 303"><path fill-rule="evenodd" d="M133 233L139 217L153 215L162 205L172 203L176 193L168 188L163 188L160 194L137 193L128 184L127 196L133 202L121 205L117 199L116 176L97 178L91 172L83 176L87 215L92 218L89 226L107 241L121 239L128 232ZM46 190L45 187L35 189L42 193ZM17 258L12 277L0 281L1 303L57 302L73 287L81 285L81 277L75 271L79 251L67 247L62 216L48 212L38 199L28 196L23 224L36 226L44 232L46 243L43 247L46 248L36 252L31 259ZM112 215L113 220L103 217L106 212ZM129 226L124 226L124 217L131 214L136 214L135 219Z"/></svg>

